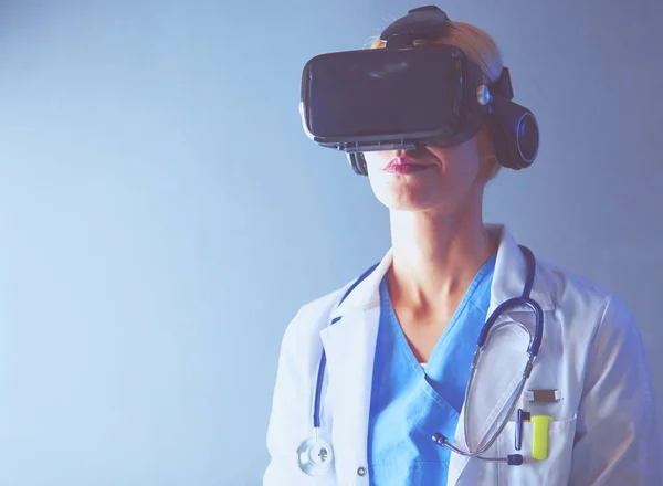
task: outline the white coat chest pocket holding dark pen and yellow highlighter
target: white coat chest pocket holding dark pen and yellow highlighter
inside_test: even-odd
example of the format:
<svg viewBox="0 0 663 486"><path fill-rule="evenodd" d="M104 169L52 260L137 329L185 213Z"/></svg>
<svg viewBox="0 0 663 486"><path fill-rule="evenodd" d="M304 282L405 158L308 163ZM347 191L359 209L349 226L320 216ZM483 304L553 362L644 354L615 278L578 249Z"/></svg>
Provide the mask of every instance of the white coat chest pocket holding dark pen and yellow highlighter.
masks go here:
<svg viewBox="0 0 663 486"><path fill-rule="evenodd" d="M509 421L499 434L497 453L506 457L509 454L523 455L523 464L509 466L504 463L498 467L499 485L517 486L560 486L566 485L571 466L573 437L576 435L576 415L569 420L554 420L548 424L547 457L535 459L533 457L534 423L523 422L523 442L516 451L516 422Z"/></svg>

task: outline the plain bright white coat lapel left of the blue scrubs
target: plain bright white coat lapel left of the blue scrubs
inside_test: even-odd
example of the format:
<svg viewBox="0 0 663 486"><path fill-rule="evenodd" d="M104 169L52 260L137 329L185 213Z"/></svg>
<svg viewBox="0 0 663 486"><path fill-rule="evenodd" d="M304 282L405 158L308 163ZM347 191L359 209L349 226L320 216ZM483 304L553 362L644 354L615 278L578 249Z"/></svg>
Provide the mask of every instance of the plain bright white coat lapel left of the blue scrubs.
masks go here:
<svg viewBox="0 0 663 486"><path fill-rule="evenodd" d="M373 357L380 318L379 284L391 264L389 252L372 274L336 309L322 330L327 355L336 474L339 484L367 465Z"/></svg>

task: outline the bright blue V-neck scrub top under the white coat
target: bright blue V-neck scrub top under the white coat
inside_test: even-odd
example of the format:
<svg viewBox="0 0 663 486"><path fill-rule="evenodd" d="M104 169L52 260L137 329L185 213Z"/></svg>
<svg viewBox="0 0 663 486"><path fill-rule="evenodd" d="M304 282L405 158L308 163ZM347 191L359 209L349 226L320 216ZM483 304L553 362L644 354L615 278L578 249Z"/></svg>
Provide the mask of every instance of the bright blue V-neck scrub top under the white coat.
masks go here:
<svg viewBox="0 0 663 486"><path fill-rule="evenodd" d="M368 427L371 485L446 485L451 452L431 437L435 432L450 439L455 434L488 311L495 260L493 255L474 277L425 371L396 317L387 277L382 278Z"/></svg>

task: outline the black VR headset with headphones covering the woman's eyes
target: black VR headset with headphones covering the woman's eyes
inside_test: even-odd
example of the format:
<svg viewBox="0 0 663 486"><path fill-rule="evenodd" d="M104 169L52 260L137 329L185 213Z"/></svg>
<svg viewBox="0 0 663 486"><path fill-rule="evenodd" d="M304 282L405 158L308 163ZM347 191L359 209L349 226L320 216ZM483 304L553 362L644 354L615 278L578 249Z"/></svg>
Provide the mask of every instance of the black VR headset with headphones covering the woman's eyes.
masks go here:
<svg viewBox="0 0 663 486"><path fill-rule="evenodd" d="M499 163L529 167L538 152L532 112L512 102L508 68L488 83L460 49L434 40L449 25L438 7L410 10L380 35L386 49L322 54L302 76L299 114L306 135L347 154L366 176L364 152L453 146L488 127Z"/></svg>

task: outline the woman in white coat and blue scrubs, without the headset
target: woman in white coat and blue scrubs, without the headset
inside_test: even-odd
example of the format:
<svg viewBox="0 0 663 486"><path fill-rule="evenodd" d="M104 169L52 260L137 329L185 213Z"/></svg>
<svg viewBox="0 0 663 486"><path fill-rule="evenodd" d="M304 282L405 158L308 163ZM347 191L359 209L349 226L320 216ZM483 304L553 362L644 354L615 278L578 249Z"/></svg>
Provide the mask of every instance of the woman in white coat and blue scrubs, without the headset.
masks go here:
<svg viewBox="0 0 663 486"><path fill-rule="evenodd" d="M492 82L502 72L475 27L450 22L435 42ZM613 294L540 260L529 268L506 228L484 224L501 167L487 126L456 146L365 157L392 247L290 323L264 485L663 485L636 324ZM486 316L529 277L545 326L526 381L532 306L499 313L471 372Z"/></svg>

